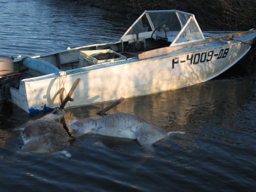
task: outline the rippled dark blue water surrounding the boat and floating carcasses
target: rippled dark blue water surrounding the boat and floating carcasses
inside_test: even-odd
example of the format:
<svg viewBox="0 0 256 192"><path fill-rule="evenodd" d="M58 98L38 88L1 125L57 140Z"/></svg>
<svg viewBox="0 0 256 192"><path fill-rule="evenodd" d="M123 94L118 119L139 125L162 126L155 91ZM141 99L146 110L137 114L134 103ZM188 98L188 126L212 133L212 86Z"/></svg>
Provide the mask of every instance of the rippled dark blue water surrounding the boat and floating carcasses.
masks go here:
<svg viewBox="0 0 256 192"><path fill-rule="evenodd" d="M31 56L117 40L125 15L65 1L0 1L1 55ZM0 116L1 191L254 191L256 70L246 57L214 80L126 99L110 112L130 112L166 131L183 131L145 151L136 141L85 135L65 151L34 155L15 128L30 116L7 103ZM81 119L107 106L67 110Z"/></svg>

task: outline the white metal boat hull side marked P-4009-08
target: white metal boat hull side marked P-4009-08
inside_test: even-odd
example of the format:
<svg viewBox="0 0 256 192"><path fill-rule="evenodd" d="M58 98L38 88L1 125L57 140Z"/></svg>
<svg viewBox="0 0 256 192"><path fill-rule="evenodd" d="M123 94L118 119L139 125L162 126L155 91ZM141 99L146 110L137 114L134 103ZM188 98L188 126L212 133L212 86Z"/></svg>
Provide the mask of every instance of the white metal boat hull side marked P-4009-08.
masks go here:
<svg viewBox="0 0 256 192"><path fill-rule="evenodd" d="M253 38L247 40L251 42ZM236 64L250 49L241 42L227 41L185 48L153 59L133 59L100 64L20 81L19 89L11 87L11 101L32 113L60 106L59 90L71 89L75 101L66 107L77 107L158 93L208 81Z"/></svg>

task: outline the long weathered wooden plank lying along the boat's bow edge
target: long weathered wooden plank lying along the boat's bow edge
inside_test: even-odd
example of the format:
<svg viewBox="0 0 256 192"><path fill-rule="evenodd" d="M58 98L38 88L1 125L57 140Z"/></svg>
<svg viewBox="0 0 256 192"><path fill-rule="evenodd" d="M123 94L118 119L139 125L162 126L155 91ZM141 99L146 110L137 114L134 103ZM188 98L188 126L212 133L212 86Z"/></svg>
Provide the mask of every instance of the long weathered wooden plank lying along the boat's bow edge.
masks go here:
<svg viewBox="0 0 256 192"><path fill-rule="evenodd" d="M207 39L207 40L203 40L203 41L198 41L198 42L191 43L191 44L180 45L177 47L163 47L163 48L159 48L159 49L154 49L154 50L146 51L146 52L139 54L138 59L142 60L142 59L148 59L148 58L156 57L156 56L160 56L160 55L166 55L168 53L171 53L171 52L179 50L179 49L184 49L184 48L193 47L193 46L201 45L201 44L205 44L205 43L212 43L214 41L221 41L224 39L239 37L239 36L243 36L243 35L247 35L247 34L252 34L255 32L256 32L256 30L237 32L234 34L220 36L220 37Z"/></svg>

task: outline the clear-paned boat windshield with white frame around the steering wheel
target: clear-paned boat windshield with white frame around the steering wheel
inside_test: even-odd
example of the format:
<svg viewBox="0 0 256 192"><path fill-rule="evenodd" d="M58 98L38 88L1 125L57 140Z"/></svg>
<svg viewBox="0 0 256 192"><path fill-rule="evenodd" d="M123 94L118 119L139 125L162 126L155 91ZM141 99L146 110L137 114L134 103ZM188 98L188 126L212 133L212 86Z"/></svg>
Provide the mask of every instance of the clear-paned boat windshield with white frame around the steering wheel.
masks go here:
<svg viewBox="0 0 256 192"><path fill-rule="evenodd" d="M139 37L150 38L167 34L171 45L191 43L203 40L204 36L195 16L177 10L144 11L134 24L121 37L122 41Z"/></svg>

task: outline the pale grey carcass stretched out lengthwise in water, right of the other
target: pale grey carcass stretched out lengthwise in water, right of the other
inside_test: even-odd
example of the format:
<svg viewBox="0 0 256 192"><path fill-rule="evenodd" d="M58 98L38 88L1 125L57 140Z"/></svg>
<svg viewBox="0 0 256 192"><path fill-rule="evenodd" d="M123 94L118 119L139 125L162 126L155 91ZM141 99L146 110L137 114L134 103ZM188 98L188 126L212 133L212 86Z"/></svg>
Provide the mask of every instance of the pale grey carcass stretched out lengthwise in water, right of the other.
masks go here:
<svg viewBox="0 0 256 192"><path fill-rule="evenodd" d="M156 124L148 123L137 115L125 112L80 119L71 122L69 127L73 130L72 133L75 136L94 133L105 136L137 139L139 144L143 146L150 146L156 141L162 140L171 133L174 133L166 132Z"/></svg>

